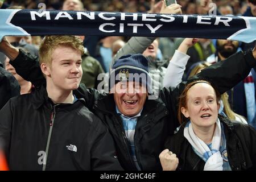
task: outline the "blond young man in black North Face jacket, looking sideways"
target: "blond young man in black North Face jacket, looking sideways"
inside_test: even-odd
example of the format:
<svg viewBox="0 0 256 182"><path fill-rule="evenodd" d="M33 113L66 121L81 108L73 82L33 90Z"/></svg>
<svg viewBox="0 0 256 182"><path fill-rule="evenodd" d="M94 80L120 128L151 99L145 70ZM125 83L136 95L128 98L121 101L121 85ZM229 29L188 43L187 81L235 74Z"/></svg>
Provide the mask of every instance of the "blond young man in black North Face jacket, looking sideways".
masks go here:
<svg viewBox="0 0 256 182"><path fill-rule="evenodd" d="M105 125L73 95L83 53L75 36L44 38L39 60L46 88L12 98L0 111L0 140L10 169L122 169Z"/></svg>

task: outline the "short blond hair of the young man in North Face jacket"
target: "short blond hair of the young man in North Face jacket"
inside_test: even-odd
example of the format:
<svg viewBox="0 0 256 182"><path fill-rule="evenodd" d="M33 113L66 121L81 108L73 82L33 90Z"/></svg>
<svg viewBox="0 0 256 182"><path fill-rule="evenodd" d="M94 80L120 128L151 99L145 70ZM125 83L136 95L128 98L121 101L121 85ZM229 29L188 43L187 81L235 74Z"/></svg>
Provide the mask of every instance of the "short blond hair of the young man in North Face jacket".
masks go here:
<svg viewBox="0 0 256 182"><path fill-rule="evenodd" d="M84 46L80 38L73 35L51 35L46 36L39 47L39 63L51 66L52 53L59 46L71 47L80 51L81 55L84 54Z"/></svg>

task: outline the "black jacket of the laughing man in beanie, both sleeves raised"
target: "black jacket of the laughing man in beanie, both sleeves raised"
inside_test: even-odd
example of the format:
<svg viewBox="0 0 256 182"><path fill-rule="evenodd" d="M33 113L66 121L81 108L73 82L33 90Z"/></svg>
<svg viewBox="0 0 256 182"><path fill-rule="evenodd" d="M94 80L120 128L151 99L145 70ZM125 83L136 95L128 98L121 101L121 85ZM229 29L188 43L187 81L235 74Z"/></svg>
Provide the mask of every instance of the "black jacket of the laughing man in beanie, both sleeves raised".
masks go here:
<svg viewBox="0 0 256 182"><path fill-rule="evenodd" d="M36 87L44 82L40 68L33 60L33 56L20 52L11 64L19 75L34 83ZM224 93L245 78L255 64L256 61L251 52L240 52L229 57L226 61L221 61L204 69L189 81L204 78L212 82L220 93ZM182 82L175 89L163 88L159 92L158 99L146 100L134 134L136 157L142 170L162 169L158 156L164 149L166 137L174 134L174 130L179 125L177 121L177 98L183 91L185 84ZM122 120L115 111L113 94L100 94L95 89L86 89L83 84L80 85L79 89L74 90L74 93L77 98L85 98L86 107L96 113L108 125L122 167L126 170L135 170Z"/></svg>

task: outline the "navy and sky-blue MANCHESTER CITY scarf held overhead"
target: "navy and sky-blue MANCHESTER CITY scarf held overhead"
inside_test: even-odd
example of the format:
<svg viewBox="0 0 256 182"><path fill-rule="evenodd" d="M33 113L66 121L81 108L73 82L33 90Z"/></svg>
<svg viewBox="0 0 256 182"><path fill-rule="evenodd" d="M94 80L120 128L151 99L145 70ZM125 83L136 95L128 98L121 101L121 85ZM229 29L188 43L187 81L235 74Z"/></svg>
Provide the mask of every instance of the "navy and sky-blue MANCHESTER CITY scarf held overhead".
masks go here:
<svg viewBox="0 0 256 182"><path fill-rule="evenodd" d="M3 36L101 35L256 40L256 18L244 16L0 10Z"/></svg>

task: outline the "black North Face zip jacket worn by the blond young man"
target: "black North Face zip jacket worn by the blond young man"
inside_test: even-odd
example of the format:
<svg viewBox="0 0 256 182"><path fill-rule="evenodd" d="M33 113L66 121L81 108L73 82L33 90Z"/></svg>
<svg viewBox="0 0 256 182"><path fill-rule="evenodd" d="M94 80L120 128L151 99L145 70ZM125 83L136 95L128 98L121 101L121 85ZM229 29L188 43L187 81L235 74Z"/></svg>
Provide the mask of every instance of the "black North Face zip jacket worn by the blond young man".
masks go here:
<svg viewBox="0 0 256 182"><path fill-rule="evenodd" d="M53 105L42 87L0 110L0 140L11 170L119 170L106 126L80 99ZM43 163L46 156L46 163Z"/></svg>

